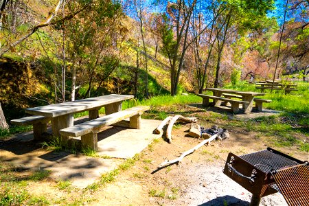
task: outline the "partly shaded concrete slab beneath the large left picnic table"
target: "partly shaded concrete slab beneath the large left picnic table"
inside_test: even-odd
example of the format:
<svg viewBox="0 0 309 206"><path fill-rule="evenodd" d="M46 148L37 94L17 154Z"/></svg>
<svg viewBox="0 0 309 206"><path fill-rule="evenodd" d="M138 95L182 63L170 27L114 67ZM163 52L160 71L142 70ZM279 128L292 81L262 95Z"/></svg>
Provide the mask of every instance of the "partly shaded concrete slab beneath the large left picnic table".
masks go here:
<svg viewBox="0 0 309 206"><path fill-rule="evenodd" d="M83 122L87 118L78 119ZM42 141L34 141L33 133L22 133L0 140L0 162L10 163L25 170L49 170L52 179L69 180L77 187L87 187L102 174L115 170L125 159L132 158L144 150L153 139L152 134L160 121L142 119L141 129L108 126L98 134L98 157L89 157L73 150L51 151L42 148ZM77 124L77 122L74 122ZM49 128L47 132L51 133ZM78 139L76 139L78 141ZM79 140L80 141L80 140ZM110 158L103 158L110 157Z"/></svg>

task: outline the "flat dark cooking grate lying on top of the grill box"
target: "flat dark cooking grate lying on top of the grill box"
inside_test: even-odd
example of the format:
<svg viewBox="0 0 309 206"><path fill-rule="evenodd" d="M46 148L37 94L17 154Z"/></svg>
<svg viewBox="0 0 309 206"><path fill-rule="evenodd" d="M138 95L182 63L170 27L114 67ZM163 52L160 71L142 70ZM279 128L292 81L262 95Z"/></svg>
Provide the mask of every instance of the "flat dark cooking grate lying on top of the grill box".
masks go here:
<svg viewBox="0 0 309 206"><path fill-rule="evenodd" d="M251 154L241 155L240 157L265 173L271 172L273 169L280 170L282 168L299 165L296 161L278 155L270 150L253 152Z"/></svg>

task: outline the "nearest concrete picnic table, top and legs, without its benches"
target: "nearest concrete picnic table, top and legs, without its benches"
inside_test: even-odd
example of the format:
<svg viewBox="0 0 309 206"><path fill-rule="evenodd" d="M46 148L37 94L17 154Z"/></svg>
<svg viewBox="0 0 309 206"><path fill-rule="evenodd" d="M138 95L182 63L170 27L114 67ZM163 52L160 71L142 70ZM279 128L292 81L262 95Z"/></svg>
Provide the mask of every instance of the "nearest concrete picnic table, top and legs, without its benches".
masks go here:
<svg viewBox="0 0 309 206"><path fill-rule="evenodd" d="M133 95L102 95L96 98L87 98L73 102L50 104L26 108L25 112L31 115L42 115L52 118L53 135L59 136L59 130L73 126L73 114L82 111L89 111L89 119L99 117L99 110L105 107L106 115L122 110L122 102L134 98Z"/></svg>

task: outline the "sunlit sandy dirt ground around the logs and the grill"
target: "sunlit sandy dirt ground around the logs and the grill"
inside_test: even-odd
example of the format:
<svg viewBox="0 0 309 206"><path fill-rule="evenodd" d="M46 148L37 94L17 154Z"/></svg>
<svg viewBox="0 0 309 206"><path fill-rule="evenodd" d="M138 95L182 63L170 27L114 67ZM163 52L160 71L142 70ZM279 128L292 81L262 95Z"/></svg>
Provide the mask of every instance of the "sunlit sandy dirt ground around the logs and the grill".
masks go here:
<svg viewBox="0 0 309 206"><path fill-rule="evenodd" d="M194 112L190 116L193 117ZM205 111L197 112L199 117L209 115ZM205 128L214 124L201 118L198 123ZM220 119L216 124L227 128ZM268 141L270 137L242 128L227 128L229 139L212 141L178 165L158 170L163 161L175 159L181 152L203 141L187 136L189 126L173 128L171 144L161 138L152 142L139 154L135 165L120 172L113 183L102 185L97 190L76 187L59 190L54 179L29 183L27 190L36 196L47 196L49 203L56 205L249 205L251 193L225 176L222 170L229 152L243 155L264 150L272 146ZM300 152L296 147L275 149L303 161L309 159L307 152ZM19 175L27 175L27 172ZM262 198L260 205L286 205L286 201L277 193Z"/></svg>

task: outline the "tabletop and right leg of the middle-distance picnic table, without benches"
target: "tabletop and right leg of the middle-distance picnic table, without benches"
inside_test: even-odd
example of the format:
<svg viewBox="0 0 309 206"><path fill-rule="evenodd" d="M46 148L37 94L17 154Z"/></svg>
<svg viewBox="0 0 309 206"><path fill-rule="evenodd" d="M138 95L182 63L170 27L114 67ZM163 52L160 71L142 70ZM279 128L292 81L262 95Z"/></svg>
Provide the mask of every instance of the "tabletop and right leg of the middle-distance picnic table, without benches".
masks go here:
<svg viewBox="0 0 309 206"><path fill-rule="evenodd" d="M253 108L253 99L256 96L264 96L265 93L258 93L253 91L237 91L233 89L220 89L220 88L206 88L207 91L212 91L214 96L220 97L222 93L236 94L242 96L242 101L247 101L249 104L242 104L244 113L251 113Z"/></svg>

